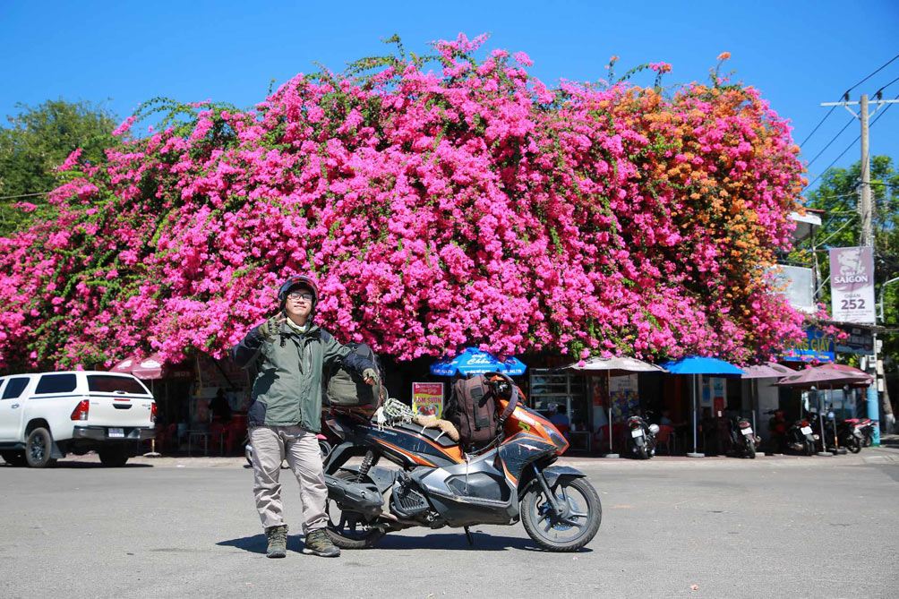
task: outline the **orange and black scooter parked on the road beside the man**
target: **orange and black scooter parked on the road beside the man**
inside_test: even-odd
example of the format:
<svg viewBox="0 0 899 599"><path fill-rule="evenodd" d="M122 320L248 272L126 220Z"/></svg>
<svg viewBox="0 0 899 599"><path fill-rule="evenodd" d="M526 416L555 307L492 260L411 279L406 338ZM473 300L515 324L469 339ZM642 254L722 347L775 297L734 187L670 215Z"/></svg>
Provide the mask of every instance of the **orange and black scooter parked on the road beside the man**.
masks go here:
<svg viewBox="0 0 899 599"><path fill-rule="evenodd" d="M334 544L367 548L414 526L462 527L472 543L469 526L519 520L547 550L578 550L592 540L602 518L599 495L583 472L554 465L568 442L522 405L512 380L496 379L498 407L509 416L494 441L470 455L439 429L394 417L372 421L358 408L328 409L327 424L343 440L325 462ZM391 402L387 408L395 409ZM359 466L347 465L358 456ZM378 466L381 459L399 469Z"/></svg>

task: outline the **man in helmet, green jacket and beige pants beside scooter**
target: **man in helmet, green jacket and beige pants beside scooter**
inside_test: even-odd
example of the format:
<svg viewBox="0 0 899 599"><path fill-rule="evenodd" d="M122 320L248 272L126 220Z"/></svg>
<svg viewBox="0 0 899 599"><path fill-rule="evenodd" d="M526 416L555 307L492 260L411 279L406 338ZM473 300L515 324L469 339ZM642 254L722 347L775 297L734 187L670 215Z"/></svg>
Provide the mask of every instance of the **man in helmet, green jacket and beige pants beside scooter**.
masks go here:
<svg viewBox="0 0 899 599"><path fill-rule="evenodd" d="M287 554L287 524L280 499L280 463L287 459L303 500L306 549L336 557L340 549L328 537L325 513L328 489L316 434L321 431L322 372L343 363L369 385L378 383L375 364L337 343L312 322L318 290L305 276L290 277L278 292L280 312L246 334L232 350L245 368L255 362L259 373L247 411L253 445L256 509L268 539L267 556Z"/></svg>

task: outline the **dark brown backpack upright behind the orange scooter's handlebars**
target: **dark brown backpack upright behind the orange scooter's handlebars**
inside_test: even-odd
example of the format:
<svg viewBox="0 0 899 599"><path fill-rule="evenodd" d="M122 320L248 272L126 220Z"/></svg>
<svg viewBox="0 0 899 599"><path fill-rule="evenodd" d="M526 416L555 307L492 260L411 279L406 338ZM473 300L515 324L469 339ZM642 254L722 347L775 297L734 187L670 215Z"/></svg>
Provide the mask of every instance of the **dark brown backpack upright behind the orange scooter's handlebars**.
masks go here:
<svg viewBox="0 0 899 599"><path fill-rule="evenodd" d="M499 426L496 398L483 374L453 383L444 414L456 425L458 443L466 450L477 450L496 438Z"/></svg>

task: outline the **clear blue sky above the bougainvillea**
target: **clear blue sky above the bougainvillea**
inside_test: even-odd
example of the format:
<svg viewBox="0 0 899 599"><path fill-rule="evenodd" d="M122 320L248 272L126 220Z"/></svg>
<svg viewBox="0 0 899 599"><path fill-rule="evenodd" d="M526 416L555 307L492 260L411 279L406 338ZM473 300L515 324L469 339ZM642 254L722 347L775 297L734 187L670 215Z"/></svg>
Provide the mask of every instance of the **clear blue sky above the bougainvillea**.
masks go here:
<svg viewBox="0 0 899 599"><path fill-rule="evenodd" d="M523 50L531 73L559 78L605 76L649 61L672 64L665 85L706 80L722 51L735 78L763 96L795 127L797 143L826 114L821 102L899 54L899 2L387 2L240 3L31 2L0 5L0 114L48 99L103 103L127 116L154 96L212 99L250 106L276 84L320 62L333 70L378 54L398 33L407 50L486 32L487 47ZM899 59L851 92L873 94L899 77ZM650 83L649 79L638 83ZM899 94L899 81L886 98ZM883 109L881 109L883 110ZM810 160L850 120L834 111L803 146ZM871 129L876 154L899 162L899 107ZM809 168L814 179L859 134L852 124ZM837 162L859 159L856 144Z"/></svg>

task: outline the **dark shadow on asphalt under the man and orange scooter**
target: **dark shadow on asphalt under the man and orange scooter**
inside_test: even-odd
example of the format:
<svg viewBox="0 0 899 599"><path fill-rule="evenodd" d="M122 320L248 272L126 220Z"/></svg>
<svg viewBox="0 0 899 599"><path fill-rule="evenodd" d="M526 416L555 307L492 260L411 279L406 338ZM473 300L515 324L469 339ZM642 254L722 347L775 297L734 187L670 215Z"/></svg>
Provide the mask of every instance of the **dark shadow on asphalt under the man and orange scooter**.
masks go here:
<svg viewBox="0 0 899 599"><path fill-rule="evenodd" d="M537 543L521 537L507 537L485 532L472 532L475 544L469 545L465 533L448 532L441 534L426 534L423 537L405 536L400 534L387 534L375 545L376 550L456 550L456 551L505 551L522 550L544 552ZM267 543L264 534L255 534L252 537L240 537L216 543L219 547L235 547L249 553L265 553ZM299 551L303 548L302 535L289 534L287 539L288 550ZM589 548L583 548L574 553L592 553Z"/></svg>

